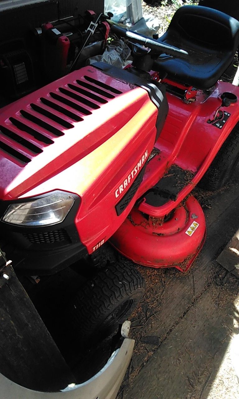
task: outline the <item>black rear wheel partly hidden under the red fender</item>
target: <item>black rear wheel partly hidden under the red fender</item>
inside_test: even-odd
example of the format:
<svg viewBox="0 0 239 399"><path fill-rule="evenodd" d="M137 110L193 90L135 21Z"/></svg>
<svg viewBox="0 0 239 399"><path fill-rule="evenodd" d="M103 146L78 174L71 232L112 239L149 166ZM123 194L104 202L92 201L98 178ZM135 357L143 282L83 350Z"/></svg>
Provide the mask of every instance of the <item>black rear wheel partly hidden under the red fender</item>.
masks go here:
<svg viewBox="0 0 239 399"><path fill-rule="evenodd" d="M227 184L239 162L239 122L235 125L198 186L215 191Z"/></svg>

